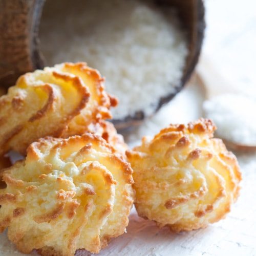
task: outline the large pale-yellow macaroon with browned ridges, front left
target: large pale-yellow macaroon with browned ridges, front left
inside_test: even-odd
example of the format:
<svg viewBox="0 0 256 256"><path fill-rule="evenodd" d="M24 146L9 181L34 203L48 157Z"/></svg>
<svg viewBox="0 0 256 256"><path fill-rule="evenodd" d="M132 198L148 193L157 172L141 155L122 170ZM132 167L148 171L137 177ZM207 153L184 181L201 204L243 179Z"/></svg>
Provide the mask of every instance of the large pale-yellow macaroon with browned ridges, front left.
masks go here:
<svg viewBox="0 0 256 256"><path fill-rule="evenodd" d="M39 139L2 178L0 231L24 253L97 253L129 222L132 168L97 135Z"/></svg>

